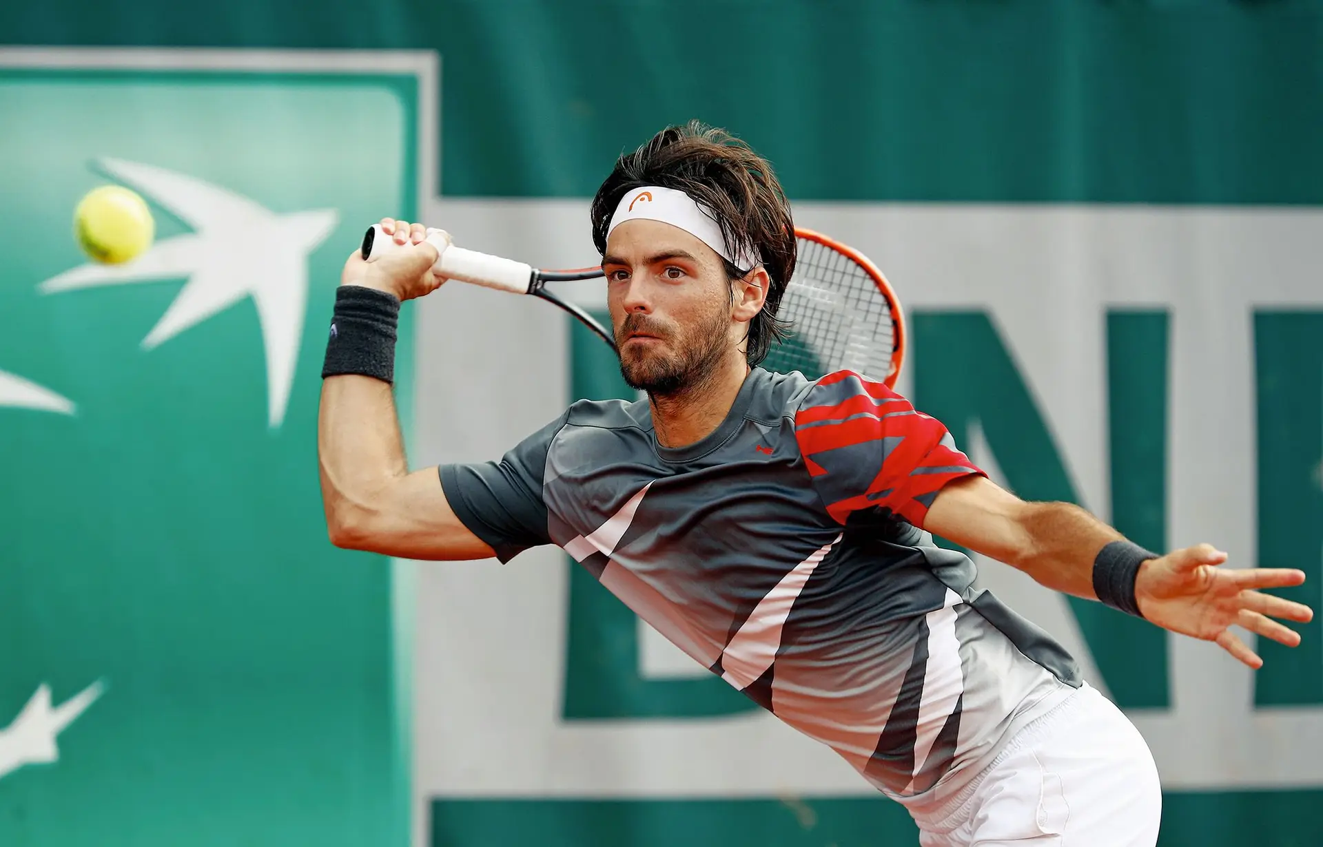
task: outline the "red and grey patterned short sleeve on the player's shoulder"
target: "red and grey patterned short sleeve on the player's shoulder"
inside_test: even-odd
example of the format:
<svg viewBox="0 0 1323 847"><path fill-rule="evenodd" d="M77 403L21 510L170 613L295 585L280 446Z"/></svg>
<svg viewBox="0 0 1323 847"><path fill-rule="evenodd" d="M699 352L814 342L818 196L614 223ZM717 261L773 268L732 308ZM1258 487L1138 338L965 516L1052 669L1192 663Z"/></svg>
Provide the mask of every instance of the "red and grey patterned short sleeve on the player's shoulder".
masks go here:
<svg viewBox="0 0 1323 847"><path fill-rule="evenodd" d="M795 408L795 440L827 511L844 525L885 510L923 529L942 486L986 476L939 420L855 371L819 379Z"/></svg>

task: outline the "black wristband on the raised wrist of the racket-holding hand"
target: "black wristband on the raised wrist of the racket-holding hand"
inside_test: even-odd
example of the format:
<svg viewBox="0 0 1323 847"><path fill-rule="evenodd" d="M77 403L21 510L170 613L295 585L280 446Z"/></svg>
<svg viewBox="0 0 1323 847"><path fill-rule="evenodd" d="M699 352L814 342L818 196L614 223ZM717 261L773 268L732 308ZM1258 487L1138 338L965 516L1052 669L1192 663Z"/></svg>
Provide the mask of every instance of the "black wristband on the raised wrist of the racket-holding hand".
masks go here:
<svg viewBox="0 0 1323 847"><path fill-rule="evenodd" d="M376 288L340 285L321 378L361 374L394 382L400 300Z"/></svg>

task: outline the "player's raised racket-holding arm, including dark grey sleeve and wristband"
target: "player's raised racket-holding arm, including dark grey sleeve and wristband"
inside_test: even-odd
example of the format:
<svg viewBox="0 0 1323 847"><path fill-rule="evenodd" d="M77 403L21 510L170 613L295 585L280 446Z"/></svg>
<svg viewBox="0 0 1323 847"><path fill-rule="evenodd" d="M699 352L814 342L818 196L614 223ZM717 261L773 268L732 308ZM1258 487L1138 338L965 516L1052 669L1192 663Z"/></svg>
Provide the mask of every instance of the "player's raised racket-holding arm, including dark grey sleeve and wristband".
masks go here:
<svg viewBox="0 0 1323 847"><path fill-rule="evenodd" d="M435 291L426 230L384 219L401 250L366 263L355 252L336 292L321 370L318 460L327 530L337 547L406 559L509 562L552 543L542 477L568 414L500 461L409 472L392 382L400 305Z"/></svg>

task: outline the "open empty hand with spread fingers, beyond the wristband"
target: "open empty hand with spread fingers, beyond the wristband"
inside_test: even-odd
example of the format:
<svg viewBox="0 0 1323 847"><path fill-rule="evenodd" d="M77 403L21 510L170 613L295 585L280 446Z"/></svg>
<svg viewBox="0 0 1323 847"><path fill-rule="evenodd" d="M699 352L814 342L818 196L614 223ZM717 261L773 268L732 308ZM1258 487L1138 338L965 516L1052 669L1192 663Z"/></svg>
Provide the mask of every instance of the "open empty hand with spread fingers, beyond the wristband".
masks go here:
<svg viewBox="0 0 1323 847"><path fill-rule="evenodd" d="M1307 624L1314 610L1307 605L1265 595L1259 588L1286 588L1304 581L1293 568L1224 570L1226 554L1212 544L1196 544L1150 559L1139 568L1135 600L1146 620L1204 641L1212 641L1253 669L1261 659L1245 646L1232 625L1241 626L1289 647L1301 634L1271 620Z"/></svg>

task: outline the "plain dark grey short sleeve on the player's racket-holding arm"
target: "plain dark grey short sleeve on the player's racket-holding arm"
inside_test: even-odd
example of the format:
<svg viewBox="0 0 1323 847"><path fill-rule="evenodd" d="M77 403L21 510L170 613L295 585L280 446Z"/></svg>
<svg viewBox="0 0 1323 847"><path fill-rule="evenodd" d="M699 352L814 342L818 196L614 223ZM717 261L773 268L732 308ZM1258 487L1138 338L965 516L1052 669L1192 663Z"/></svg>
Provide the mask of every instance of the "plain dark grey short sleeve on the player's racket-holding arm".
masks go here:
<svg viewBox="0 0 1323 847"><path fill-rule="evenodd" d="M441 488L455 517L495 550L501 563L529 547L552 543L542 474L546 451L568 415L520 441L500 461L441 465Z"/></svg>

